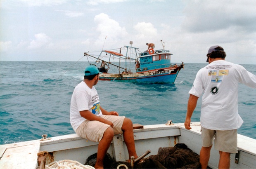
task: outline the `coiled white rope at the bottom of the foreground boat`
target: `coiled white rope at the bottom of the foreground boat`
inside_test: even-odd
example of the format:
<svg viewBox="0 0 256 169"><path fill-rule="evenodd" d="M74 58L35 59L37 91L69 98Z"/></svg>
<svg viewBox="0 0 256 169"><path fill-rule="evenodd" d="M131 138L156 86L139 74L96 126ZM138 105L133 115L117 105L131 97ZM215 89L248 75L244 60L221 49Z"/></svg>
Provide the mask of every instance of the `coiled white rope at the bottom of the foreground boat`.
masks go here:
<svg viewBox="0 0 256 169"><path fill-rule="evenodd" d="M45 165L45 169L95 169L90 165L83 165L78 161L60 160Z"/></svg>

